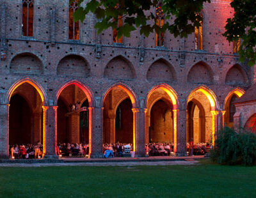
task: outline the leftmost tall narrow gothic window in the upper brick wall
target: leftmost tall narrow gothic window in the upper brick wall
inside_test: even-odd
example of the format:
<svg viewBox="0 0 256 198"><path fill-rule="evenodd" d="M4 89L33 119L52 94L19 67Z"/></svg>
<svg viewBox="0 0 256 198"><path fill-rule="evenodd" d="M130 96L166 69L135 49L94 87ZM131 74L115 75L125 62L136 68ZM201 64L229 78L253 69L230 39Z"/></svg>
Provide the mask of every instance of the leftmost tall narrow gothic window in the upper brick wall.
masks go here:
<svg viewBox="0 0 256 198"><path fill-rule="evenodd" d="M22 0L22 36L33 36L34 0Z"/></svg>

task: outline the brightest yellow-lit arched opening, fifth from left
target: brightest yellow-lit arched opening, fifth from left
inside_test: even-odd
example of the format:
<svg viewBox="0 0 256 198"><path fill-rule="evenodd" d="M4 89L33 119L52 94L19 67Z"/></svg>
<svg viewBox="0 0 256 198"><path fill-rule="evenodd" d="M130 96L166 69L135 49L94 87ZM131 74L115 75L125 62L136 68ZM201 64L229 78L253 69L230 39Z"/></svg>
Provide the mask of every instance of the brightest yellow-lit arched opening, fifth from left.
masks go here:
<svg viewBox="0 0 256 198"><path fill-rule="evenodd" d="M187 100L187 142L214 144L218 103L214 93L204 86L194 89Z"/></svg>

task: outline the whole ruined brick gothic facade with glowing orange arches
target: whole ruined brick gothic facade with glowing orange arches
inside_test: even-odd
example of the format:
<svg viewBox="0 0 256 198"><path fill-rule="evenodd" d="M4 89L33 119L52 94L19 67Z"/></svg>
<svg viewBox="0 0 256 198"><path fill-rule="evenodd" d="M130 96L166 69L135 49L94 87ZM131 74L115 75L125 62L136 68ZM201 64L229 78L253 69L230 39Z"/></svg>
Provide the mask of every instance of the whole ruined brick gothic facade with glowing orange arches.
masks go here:
<svg viewBox="0 0 256 198"><path fill-rule="evenodd" d="M42 142L45 157L56 156L57 142L89 142L90 156L101 157L103 143L118 141L136 156L148 142L173 142L186 155L189 139L214 142L225 123L234 126L234 101L254 81L237 43L222 36L230 1L204 4L202 28L188 38L98 35L95 16L74 22L68 0L0 6L1 157L28 142ZM87 112L68 114L77 102Z"/></svg>

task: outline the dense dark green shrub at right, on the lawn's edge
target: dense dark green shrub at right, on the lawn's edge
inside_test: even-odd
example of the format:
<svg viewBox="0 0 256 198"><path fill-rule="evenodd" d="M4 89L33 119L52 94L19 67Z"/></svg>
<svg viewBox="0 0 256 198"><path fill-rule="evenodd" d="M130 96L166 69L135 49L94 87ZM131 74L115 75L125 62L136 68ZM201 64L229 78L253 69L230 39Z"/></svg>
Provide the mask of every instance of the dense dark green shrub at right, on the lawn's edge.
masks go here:
<svg viewBox="0 0 256 198"><path fill-rule="evenodd" d="M256 135L245 130L237 133L234 129L225 127L217 133L211 158L218 164L255 165Z"/></svg>

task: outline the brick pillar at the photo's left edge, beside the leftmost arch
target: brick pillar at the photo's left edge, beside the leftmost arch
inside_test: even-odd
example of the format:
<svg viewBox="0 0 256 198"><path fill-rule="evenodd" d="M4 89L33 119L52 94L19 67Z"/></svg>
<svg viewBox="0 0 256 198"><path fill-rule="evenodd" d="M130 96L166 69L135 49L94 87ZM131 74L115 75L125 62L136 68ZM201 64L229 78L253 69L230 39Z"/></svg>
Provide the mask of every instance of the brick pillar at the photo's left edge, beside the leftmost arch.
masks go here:
<svg viewBox="0 0 256 198"><path fill-rule="evenodd" d="M9 156L9 106L0 103L0 158Z"/></svg>

